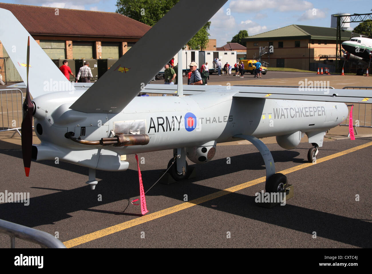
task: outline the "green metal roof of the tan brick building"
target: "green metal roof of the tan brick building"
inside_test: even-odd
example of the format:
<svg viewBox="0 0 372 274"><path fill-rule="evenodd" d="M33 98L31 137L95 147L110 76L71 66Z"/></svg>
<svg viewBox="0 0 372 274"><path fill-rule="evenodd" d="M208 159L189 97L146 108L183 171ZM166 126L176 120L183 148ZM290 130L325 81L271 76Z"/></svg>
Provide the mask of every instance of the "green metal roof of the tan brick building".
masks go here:
<svg viewBox="0 0 372 274"><path fill-rule="evenodd" d="M349 40L352 32L341 31L341 40ZM353 36L359 36L354 33ZM303 25L290 25L279 29L270 30L244 38L244 41L258 41L269 39L327 39L336 40L336 28L323 28Z"/></svg>

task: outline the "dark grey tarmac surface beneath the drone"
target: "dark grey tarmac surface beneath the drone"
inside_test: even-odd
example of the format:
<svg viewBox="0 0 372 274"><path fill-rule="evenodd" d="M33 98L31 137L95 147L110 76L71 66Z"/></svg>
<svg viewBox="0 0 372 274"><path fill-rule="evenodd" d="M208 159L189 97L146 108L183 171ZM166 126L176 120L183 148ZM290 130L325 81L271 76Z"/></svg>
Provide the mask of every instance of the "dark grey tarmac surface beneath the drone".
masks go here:
<svg viewBox="0 0 372 274"><path fill-rule="evenodd" d="M269 84L270 74L275 72L252 79ZM283 74L285 85L307 77L297 74L291 80L292 74L296 73ZM211 75L214 84L226 84L218 82L222 77L225 81L232 76ZM336 85L339 76L312 77L334 78ZM372 86L369 77L344 77L357 86ZM231 79L234 84L243 82ZM244 84L249 81L244 78ZM0 203L0 219L58 235L70 248L371 248L372 130L358 132L351 141L346 126L331 129L316 164L307 161L311 144L306 138L290 150L280 148L275 137L262 139L276 172L294 186L294 197L271 209L255 203L266 173L261 155L247 141L219 144L214 159L203 165L187 159L196 177L169 185L153 186L172 151L140 154L145 161L140 164L144 189L153 186L146 194L149 212L144 216L140 206L129 202L140 193L134 155L127 155L127 171L97 171L99 183L90 190L85 184L88 168L69 163L32 162L30 177L25 177L20 137L0 132L0 192L30 195L28 206ZM9 247L9 236L1 234L0 248ZM39 246L16 239L16 247Z"/></svg>

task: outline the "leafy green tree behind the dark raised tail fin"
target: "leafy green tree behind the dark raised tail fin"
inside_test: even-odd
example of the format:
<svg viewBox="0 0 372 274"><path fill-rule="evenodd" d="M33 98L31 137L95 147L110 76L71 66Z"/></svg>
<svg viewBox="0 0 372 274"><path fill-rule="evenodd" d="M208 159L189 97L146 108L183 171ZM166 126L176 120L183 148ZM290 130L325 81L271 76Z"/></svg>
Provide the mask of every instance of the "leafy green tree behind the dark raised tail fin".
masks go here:
<svg viewBox="0 0 372 274"><path fill-rule="evenodd" d="M154 26L179 0L117 0L116 12L149 26ZM198 50L208 45L211 22L207 22L187 45Z"/></svg>

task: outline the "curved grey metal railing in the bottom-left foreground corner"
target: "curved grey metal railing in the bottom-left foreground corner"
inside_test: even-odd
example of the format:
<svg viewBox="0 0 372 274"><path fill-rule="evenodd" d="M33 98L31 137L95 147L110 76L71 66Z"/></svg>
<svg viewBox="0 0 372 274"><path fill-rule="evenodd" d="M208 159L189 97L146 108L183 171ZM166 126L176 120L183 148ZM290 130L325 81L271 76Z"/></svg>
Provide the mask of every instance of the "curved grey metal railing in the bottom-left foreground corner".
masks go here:
<svg viewBox="0 0 372 274"><path fill-rule="evenodd" d="M64 244L53 235L28 226L18 225L17 223L0 220L0 233L10 236L10 247L16 247L16 239L19 238L28 242L39 244L41 247L66 248Z"/></svg>

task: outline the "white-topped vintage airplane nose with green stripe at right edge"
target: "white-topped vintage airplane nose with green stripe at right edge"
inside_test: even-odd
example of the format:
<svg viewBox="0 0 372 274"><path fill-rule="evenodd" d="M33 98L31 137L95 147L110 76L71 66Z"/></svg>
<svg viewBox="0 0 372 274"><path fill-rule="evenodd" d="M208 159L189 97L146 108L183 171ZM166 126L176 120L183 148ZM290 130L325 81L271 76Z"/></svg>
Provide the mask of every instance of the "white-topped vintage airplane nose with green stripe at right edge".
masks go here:
<svg viewBox="0 0 372 274"><path fill-rule="evenodd" d="M364 69L371 65L372 39L366 37L353 37L341 44L345 51L345 60L356 63L362 68L357 70L358 75L363 75Z"/></svg>

